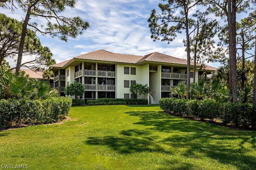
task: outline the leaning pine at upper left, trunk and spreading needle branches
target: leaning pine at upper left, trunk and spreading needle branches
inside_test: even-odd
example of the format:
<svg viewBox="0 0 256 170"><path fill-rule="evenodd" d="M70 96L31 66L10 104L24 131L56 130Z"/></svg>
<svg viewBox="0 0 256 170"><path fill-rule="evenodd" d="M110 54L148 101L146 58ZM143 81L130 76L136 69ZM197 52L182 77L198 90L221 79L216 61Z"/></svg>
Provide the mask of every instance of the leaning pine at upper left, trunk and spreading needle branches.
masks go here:
<svg viewBox="0 0 256 170"><path fill-rule="evenodd" d="M76 38L89 27L89 23L83 21L78 16L62 16L62 12L64 12L66 8L74 8L76 2L77 0L2 0L3 7L9 7L13 10L13 8L18 6L18 8L21 8L26 14L22 21L22 32L16 66L17 73L20 72L28 27L42 35L50 35L51 37L57 37L63 41L67 41L68 37ZM45 19L46 24L42 25L33 22L33 19L38 17Z"/></svg>

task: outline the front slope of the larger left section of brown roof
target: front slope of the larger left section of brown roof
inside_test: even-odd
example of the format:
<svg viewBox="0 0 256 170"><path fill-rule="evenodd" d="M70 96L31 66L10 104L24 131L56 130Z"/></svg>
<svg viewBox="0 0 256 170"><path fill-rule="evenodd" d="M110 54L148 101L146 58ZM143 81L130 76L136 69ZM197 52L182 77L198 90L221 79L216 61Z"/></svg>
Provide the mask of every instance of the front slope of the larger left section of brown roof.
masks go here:
<svg viewBox="0 0 256 170"><path fill-rule="evenodd" d="M91 60L98 60L98 61L113 61L113 62L120 62L120 63L136 63L138 60L142 59L143 56L112 53L103 49L99 49L96 51L92 51L90 53L79 55L74 58L91 59Z"/></svg>

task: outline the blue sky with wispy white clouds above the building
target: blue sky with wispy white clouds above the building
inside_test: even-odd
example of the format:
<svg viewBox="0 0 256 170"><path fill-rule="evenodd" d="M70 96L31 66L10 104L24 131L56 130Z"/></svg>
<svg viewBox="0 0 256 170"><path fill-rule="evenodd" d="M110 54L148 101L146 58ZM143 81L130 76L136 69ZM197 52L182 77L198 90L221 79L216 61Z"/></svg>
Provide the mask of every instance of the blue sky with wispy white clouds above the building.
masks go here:
<svg viewBox="0 0 256 170"><path fill-rule="evenodd" d="M57 63L71 59L78 55L105 49L114 53L133 55L146 55L152 52L160 52L178 58L186 58L185 47L182 43L185 38L185 30L178 34L177 38L167 42L153 42L150 38L148 18L151 10L156 8L160 0L80 0L76 7L66 9L64 16L80 16L90 23L83 35L76 39L68 39L68 42L40 36L42 45L48 46L53 53ZM22 20L25 14L16 9L14 13L10 10L2 10L1 13L17 20ZM44 24L42 18L32 18L31 21ZM28 60L23 57L23 61ZM10 61L10 64L14 64ZM219 63L207 63L218 67Z"/></svg>

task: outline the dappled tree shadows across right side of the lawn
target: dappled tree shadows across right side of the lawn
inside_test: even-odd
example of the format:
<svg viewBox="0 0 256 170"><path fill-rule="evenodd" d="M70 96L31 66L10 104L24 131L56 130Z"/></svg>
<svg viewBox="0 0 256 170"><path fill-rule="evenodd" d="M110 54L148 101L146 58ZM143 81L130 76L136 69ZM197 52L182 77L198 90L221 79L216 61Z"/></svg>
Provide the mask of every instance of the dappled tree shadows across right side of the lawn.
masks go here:
<svg viewBox="0 0 256 170"><path fill-rule="evenodd" d="M134 124L143 125L145 128L122 130L121 136L118 137L89 137L85 142L108 146L121 154L177 154L178 151L187 158L211 158L238 169L256 169L256 156L250 153L256 149L255 132L181 119L156 111L135 111L126 114L140 117L140 121ZM165 159L165 162L174 163L168 159ZM180 163L177 166L180 166L177 169L191 169L194 165Z"/></svg>

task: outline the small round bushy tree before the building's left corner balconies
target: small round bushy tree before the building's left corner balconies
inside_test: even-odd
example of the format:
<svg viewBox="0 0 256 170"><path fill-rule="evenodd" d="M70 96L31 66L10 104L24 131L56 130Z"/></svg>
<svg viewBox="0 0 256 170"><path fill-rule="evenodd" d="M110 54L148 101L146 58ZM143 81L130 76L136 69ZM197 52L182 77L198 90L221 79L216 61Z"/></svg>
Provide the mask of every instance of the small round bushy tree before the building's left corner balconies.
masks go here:
<svg viewBox="0 0 256 170"><path fill-rule="evenodd" d="M71 95L71 96L82 96L84 94L84 86L81 83L74 82L70 85L67 85L64 89L65 95Z"/></svg>

